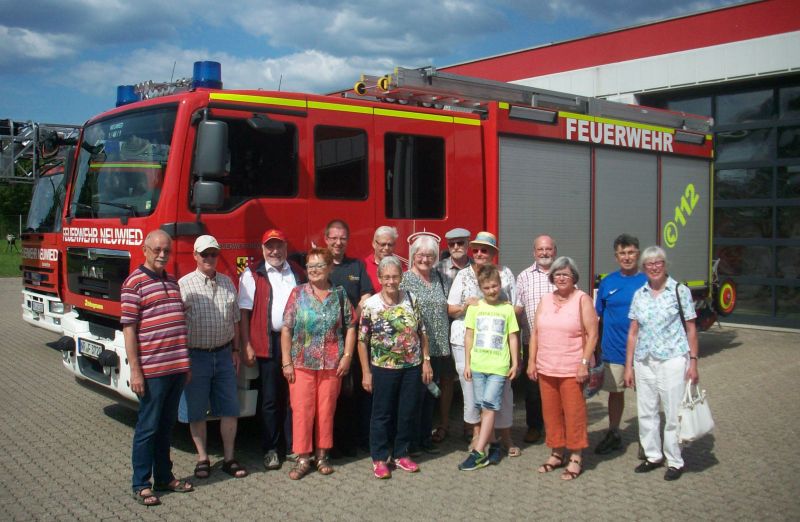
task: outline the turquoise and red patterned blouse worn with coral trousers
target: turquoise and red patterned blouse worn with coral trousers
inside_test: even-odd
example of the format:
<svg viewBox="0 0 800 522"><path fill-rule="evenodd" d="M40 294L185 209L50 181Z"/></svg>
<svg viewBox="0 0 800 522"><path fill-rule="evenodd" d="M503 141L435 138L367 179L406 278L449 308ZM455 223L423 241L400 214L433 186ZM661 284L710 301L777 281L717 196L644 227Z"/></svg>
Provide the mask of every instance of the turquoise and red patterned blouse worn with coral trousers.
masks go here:
<svg viewBox="0 0 800 522"><path fill-rule="evenodd" d="M340 286L324 301L314 295L311 284L296 286L283 312L283 326L292 332L292 363L306 370L335 370L344 354L342 310L347 328L355 326L353 306Z"/></svg>

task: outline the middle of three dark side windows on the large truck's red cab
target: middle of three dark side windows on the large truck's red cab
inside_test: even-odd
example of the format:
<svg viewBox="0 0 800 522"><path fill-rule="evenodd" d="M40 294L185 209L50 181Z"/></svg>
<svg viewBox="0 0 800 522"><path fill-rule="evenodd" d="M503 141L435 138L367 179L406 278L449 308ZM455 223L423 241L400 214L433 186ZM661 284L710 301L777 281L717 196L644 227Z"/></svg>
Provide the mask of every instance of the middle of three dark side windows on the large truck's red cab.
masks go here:
<svg viewBox="0 0 800 522"><path fill-rule="evenodd" d="M367 198L367 133L362 129L314 129L314 190L320 199Z"/></svg>

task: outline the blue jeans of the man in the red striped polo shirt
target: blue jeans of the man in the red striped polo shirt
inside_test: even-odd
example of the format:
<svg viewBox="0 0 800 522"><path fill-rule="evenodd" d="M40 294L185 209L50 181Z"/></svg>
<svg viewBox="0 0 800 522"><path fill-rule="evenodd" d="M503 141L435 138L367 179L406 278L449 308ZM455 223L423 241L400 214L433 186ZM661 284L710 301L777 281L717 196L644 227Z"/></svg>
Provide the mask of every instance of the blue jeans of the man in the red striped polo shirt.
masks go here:
<svg viewBox="0 0 800 522"><path fill-rule="evenodd" d="M169 450L185 381L185 373L144 380L144 396L139 399L139 418L131 451L133 491L151 487L151 477L159 485L175 479Z"/></svg>

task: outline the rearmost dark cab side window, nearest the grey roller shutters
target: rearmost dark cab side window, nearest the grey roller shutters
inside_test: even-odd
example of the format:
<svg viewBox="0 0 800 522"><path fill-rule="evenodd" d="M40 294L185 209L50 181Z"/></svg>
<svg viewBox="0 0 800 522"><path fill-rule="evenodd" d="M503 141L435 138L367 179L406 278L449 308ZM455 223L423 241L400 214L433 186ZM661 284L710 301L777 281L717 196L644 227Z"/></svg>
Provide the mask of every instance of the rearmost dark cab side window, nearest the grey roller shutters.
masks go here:
<svg viewBox="0 0 800 522"><path fill-rule="evenodd" d="M386 217L439 219L445 212L443 138L387 134Z"/></svg>

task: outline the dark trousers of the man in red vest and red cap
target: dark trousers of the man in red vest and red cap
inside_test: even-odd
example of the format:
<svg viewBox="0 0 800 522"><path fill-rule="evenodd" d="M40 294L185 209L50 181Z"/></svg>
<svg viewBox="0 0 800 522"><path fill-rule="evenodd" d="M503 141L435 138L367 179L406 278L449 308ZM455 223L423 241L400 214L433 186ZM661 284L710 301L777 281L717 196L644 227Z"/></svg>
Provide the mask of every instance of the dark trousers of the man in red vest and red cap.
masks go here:
<svg viewBox="0 0 800 522"><path fill-rule="evenodd" d="M270 333L271 357L256 358L261 377L261 450L290 453L292 448L292 410L289 384L281 368L281 334ZM283 436L283 437L281 437ZM283 440L281 440L283 439Z"/></svg>

